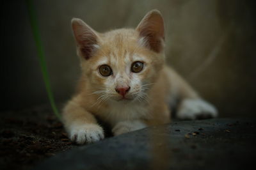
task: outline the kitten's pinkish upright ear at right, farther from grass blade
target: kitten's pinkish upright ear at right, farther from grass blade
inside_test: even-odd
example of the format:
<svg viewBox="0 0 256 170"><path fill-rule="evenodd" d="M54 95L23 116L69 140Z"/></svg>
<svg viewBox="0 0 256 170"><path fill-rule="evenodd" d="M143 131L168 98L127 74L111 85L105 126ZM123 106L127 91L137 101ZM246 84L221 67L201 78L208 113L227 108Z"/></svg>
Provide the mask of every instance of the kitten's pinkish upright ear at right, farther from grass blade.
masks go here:
<svg viewBox="0 0 256 170"><path fill-rule="evenodd" d="M164 47L164 20L158 10L148 12L136 28L143 43L155 52L161 52Z"/></svg>

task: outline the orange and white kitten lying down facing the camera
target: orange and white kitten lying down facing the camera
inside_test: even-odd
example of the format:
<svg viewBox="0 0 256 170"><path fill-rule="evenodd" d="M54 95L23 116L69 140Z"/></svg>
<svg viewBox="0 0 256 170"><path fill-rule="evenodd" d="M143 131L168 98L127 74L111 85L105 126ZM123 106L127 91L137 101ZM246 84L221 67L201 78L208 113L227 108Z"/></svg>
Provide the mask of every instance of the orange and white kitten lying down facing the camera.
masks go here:
<svg viewBox="0 0 256 170"><path fill-rule="evenodd" d="M77 94L63 109L63 123L78 144L104 138L95 116L111 125L114 135L170 122L177 118L216 117L205 102L172 68L164 64L164 21L148 12L136 29L97 33L83 20L72 19L81 60ZM179 100L179 103L177 102Z"/></svg>

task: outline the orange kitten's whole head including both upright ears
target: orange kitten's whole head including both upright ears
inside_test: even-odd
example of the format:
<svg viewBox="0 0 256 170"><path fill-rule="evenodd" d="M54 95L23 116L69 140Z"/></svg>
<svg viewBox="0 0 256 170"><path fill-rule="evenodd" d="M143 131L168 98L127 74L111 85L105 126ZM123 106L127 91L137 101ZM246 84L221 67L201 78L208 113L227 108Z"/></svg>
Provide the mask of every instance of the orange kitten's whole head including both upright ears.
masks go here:
<svg viewBox="0 0 256 170"><path fill-rule="evenodd" d="M164 63L164 22L159 11L148 12L136 29L101 34L80 19L72 19L72 29L83 79L99 100L147 100Z"/></svg>

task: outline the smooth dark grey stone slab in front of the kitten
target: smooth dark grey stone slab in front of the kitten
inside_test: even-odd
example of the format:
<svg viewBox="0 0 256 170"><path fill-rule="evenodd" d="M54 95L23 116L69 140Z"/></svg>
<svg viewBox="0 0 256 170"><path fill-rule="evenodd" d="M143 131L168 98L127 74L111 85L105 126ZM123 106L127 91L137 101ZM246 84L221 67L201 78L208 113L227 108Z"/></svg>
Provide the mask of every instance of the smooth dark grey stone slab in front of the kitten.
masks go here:
<svg viewBox="0 0 256 170"><path fill-rule="evenodd" d="M174 121L57 154L40 169L250 169L252 119Z"/></svg>

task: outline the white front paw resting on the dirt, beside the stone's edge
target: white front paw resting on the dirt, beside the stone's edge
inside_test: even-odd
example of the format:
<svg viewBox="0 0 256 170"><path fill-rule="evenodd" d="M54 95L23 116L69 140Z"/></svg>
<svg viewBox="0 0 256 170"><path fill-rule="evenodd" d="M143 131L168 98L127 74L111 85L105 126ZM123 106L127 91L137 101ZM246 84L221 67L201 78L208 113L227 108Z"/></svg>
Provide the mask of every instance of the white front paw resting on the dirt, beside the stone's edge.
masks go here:
<svg viewBox="0 0 256 170"><path fill-rule="evenodd" d="M104 139L104 132L97 124L73 125L70 128L70 139L77 144L95 143Z"/></svg>

